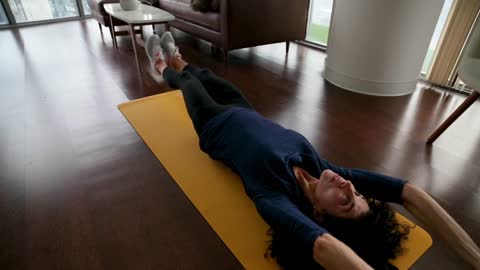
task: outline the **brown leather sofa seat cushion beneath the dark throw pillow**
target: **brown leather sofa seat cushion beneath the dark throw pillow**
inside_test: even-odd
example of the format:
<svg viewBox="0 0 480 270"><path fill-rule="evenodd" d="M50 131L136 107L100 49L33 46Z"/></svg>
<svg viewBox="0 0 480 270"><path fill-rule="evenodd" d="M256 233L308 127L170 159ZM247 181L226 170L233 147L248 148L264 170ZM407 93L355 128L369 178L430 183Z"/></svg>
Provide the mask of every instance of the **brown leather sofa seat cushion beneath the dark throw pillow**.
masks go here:
<svg viewBox="0 0 480 270"><path fill-rule="evenodd" d="M217 12L194 11L191 0L160 0L159 7L182 20L220 32L220 14Z"/></svg>

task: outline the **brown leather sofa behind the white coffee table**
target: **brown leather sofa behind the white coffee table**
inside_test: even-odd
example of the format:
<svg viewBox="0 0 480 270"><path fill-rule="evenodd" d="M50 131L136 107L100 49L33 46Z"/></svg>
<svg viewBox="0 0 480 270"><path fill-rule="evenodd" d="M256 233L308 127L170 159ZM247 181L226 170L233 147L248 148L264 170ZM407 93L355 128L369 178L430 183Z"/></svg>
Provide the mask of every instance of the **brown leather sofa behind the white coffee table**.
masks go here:
<svg viewBox="0 0 480 270"><path fill-rule="evenodd" d="M168 23L228 51L305 39L309 0L220 0L218 12L198 12L191 0L158 0L173 14Z"/></svg>

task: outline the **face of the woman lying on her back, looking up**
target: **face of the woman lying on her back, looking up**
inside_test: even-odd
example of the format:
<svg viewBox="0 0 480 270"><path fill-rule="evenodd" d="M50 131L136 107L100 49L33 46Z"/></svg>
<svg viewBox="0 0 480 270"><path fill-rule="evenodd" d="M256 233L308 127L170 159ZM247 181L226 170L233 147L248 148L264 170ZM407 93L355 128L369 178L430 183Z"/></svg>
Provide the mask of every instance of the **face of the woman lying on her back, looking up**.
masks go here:
<svg viewBox="0 0 480 270"><path fill-rule="evenodd" d="M312 197L318 210L339 218L359 218L369 210L365 198L353 184L332 170L325 170L312 185Z"/></svg>

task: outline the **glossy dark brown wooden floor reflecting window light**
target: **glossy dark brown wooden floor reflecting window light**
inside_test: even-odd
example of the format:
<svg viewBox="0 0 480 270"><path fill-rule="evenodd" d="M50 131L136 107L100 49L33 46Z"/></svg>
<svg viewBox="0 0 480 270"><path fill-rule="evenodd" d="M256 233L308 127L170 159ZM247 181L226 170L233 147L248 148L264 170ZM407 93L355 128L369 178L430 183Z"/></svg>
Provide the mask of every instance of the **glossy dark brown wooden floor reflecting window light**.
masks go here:
<svg viewBox="0 0 480 270"><path fill-rule="evenodd" d="M243 269L117 110L170 89L147 72L140 83L130 39L117 55L104 32L93 20L0 31L0 269ZM185 59L325 158L410 180L480 243L478 102L427 147L464 96L344 91L322 78L326 55L297 44L235 51L226 68L177 36ZM434 238L415 269L469 269Z"/></svg>

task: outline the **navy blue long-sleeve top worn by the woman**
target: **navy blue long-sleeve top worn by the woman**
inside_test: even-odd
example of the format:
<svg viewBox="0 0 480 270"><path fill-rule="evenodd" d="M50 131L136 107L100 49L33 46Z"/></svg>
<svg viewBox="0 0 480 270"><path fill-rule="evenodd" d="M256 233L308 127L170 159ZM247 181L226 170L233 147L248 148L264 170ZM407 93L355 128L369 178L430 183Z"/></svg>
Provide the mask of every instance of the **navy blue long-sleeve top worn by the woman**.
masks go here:
<svg viewBox="0 0 480 270"><path fill-rule="evenodd" d="M330 169L366 197L402 202L404 180L337 167L320 158L304 136L253 110L228 109L207 122L199 137L202 151L241 177L262 218L274 229L294 236L303 248L313 250L313 243L326 230L312 219L312 206L297 184L293 166L314 177Z"/></svg>

